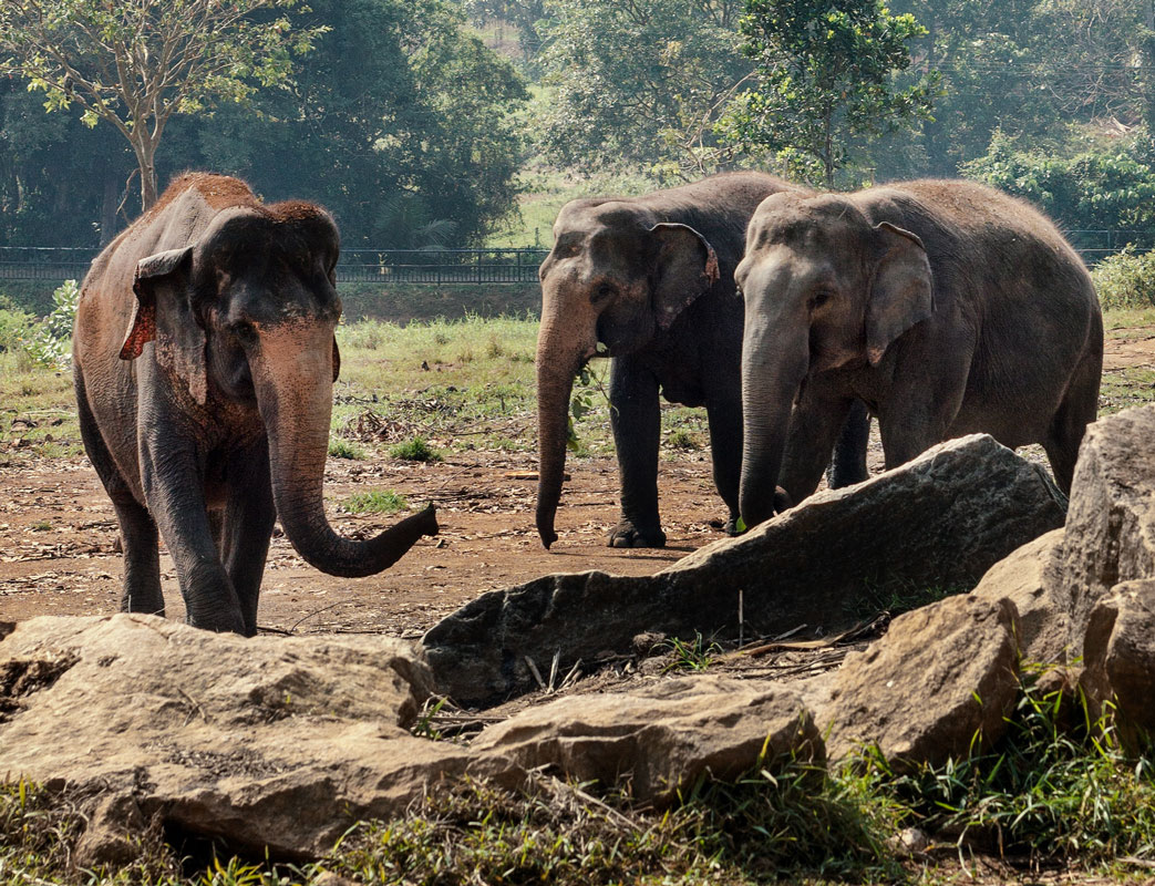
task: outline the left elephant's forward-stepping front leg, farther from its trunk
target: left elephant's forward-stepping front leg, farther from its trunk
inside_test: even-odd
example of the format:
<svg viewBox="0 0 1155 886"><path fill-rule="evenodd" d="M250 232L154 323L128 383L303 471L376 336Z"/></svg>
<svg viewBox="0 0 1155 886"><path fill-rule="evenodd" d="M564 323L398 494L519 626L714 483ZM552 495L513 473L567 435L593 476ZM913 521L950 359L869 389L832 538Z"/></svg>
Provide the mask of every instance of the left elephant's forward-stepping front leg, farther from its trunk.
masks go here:
<svg viewBox="0 0 1155 886"><path fill-rule="evenodd" d="M149 512L177 566L185 620L207 631L244 633L240 602L213 537L195 454L171 434L147 438L141 444L141 478Z"/></svg>

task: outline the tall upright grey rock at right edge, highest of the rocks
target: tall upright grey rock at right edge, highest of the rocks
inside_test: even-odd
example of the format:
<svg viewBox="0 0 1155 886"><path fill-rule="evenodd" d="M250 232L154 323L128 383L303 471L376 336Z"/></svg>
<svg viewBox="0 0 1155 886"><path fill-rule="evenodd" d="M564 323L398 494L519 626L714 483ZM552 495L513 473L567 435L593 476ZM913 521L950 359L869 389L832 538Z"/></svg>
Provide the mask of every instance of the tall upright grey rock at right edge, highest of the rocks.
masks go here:
<svg viewBox="0 0 1155 886"><path fill-rule="evenodd" d="M1071 655L1095 604L1120 581L1155 578L1155 405L1087 429L1071 487L1058 594L1070 601Z"/></svg>

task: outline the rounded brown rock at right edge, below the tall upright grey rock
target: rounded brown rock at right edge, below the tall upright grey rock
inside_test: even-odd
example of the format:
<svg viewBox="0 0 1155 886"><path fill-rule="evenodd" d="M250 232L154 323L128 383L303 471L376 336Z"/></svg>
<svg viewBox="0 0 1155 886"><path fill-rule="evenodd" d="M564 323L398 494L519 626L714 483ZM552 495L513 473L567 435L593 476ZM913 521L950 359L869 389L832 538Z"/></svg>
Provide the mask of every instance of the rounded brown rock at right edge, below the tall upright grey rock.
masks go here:
<svg viewBox="0 0 1155 886"><path fill-rule="evenodd" d="M1155 738L1155 580L1126 581L1091 610L1080 685L1093 717L1105 715L1125 747Z"/></svg>

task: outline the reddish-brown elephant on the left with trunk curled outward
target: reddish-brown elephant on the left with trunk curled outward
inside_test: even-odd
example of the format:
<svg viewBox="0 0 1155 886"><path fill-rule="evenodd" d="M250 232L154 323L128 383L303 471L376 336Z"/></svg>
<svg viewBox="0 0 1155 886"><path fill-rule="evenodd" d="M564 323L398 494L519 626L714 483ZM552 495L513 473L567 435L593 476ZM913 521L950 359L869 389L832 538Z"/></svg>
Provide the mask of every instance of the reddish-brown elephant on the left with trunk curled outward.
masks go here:
<svg viewBox="0 0 1155 886"><path fill-rule="evenodd" d="M325 516L338 248L319 207L188 173L92 261L73 380L120 522L124 611L164 615L158 530L187 621L249 636L277 516L334 575L380 572L438 533L432 505L366 542Z"/></svg>

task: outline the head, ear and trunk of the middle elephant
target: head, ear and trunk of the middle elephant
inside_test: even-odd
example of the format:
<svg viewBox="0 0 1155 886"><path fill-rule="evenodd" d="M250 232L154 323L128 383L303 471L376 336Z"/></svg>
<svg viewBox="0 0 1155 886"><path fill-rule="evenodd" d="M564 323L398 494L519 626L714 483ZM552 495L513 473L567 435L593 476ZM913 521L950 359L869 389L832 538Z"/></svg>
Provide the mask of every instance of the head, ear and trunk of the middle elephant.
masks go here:
<svg viewBox="0 0 1155 886"><path fill-rule="evenodd" d="M628 201L568 203L553 236L539 271L537 336L537 531L546 548L557 539L574 375L595 355L646 347L718 280L702 234Z"/></svg>

